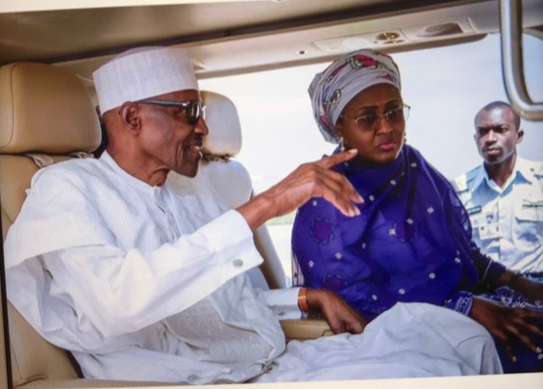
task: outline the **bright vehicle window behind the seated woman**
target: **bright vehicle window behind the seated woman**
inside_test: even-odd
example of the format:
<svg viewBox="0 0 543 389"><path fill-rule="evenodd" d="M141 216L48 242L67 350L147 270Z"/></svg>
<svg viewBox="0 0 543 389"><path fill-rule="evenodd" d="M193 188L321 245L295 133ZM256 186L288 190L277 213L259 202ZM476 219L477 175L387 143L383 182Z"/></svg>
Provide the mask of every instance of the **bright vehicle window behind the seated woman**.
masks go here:
<svg viewBox="0 0 543 389"><path fill-rule="evenodd" d="M500 36L444 48L392 54L400 68L402 96L411 106L407 142L447 178L481 163L473 141L473 117L486 103L508 101L502 81ZM543 101L543 41L524 36L526 83L533 101ZM307 87L327 63L200 81L202 89L228 96L238 108L243 147L237 159L262 192L300 163L335 148L324 141L311 112ZM543 123L522 121L518 152L543 160ZM267 223L278 255L291 274L294 214ZM289 280L287 280L289 284Z"/></svg>

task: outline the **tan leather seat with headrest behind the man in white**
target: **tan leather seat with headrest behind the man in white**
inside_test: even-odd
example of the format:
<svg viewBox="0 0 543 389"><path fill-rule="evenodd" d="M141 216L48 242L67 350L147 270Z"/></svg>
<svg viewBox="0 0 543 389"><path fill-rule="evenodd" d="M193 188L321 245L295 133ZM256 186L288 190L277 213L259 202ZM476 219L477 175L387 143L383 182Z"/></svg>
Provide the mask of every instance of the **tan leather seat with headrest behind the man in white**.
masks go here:
<svg viewBox="0 0 543 389"><path fill-rule="evenodd" d="M99 121L77 77L41 63L0 68L0 199L3 239L40 166L92 152ZM8 296L9 298L9 296ZM76 379L71 355L43 339L8 302L13 386L40 379Z"/></svg>

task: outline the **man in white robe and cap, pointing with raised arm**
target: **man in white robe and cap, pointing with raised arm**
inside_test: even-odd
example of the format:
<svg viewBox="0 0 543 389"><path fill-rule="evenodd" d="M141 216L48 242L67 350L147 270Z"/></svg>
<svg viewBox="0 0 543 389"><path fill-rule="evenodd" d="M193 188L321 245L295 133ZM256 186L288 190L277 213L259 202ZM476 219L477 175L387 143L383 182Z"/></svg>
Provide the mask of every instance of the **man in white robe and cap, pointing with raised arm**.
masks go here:
<svg viewBox="0 0 543 389"><path fill-rule="evenodd" d="M100 159L39 171L6 239L8 297L85 377L186 383L501 372L489 334L445 308L403 304L365 328L324 290L255 290L252 232L323 197L362 199L307 163L236 210L197 175L208 132L183 50L129 50L94 73L110 143ZM188 178L194 177L194 178ZM30 239L37 237L37 239ZM293 342L274 309L320 311L330 338ZM444 310L433 320L435 310Z"/></svg>

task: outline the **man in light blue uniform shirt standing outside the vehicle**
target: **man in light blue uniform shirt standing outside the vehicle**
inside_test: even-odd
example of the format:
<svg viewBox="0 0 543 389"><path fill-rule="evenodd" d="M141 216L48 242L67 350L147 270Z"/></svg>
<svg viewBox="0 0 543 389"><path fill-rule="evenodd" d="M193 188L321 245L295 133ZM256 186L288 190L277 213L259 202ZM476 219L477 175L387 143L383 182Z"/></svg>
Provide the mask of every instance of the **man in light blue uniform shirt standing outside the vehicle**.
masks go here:
<svg viewBox="0 0 543 389"><path fill-rule="evenodd" d="M474 139L484 162L453 186L482 252L518 275L543 282L543 163L518 156L523 136L520 117L508 103L493 101L481 108Z"/></svg>

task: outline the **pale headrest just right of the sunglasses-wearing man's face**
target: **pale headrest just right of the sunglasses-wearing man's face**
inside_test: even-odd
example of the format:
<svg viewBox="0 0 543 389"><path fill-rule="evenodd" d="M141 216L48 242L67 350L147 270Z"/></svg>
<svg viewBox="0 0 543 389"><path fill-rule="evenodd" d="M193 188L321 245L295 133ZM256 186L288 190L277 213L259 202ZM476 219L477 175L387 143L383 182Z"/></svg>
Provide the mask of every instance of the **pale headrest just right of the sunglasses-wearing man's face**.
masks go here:
<svg viewBox="0 0 543 389"><path fill-rule="evenodd" d="M202 90L207 107L205 122L209 134L205 139L203 154L234 157L241 150L241 126L234 103L222 94Z"/></svg>

